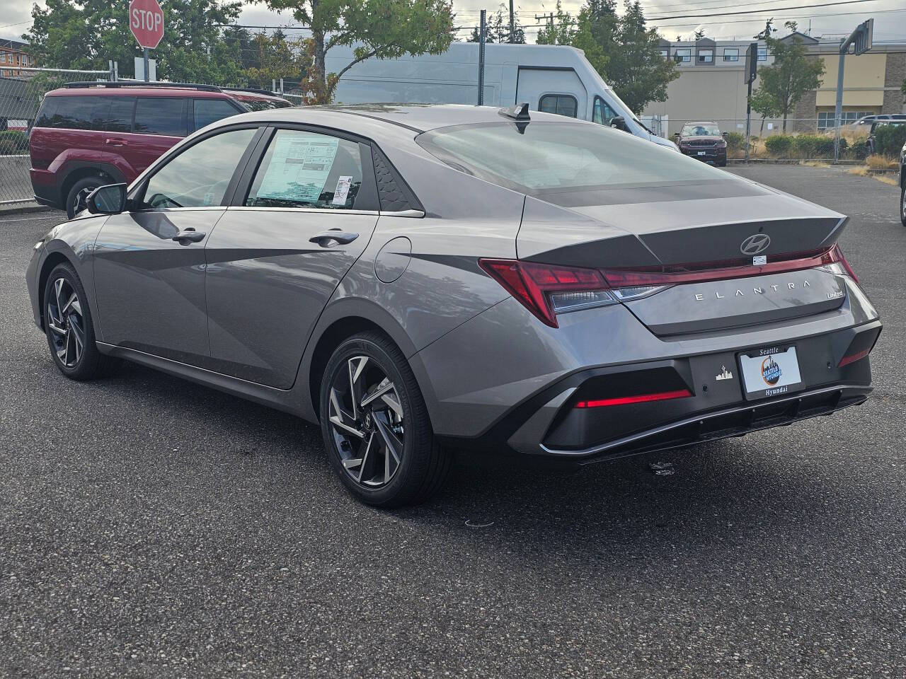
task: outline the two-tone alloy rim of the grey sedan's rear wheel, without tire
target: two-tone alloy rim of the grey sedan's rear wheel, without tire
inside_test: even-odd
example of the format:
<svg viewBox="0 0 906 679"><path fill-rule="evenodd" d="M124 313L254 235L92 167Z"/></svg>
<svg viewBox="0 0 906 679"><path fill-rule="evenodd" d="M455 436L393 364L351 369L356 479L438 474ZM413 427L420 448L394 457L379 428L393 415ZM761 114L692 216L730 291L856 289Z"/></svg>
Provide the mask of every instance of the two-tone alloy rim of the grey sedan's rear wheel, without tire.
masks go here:
<svg viewBox="0 0 906 679"><path fill-rule="evenodd" d="M328 413L343 469L355 483L384 486L400 469L405 441L397 387L375 359L353 356L330 387Z"/></svg>

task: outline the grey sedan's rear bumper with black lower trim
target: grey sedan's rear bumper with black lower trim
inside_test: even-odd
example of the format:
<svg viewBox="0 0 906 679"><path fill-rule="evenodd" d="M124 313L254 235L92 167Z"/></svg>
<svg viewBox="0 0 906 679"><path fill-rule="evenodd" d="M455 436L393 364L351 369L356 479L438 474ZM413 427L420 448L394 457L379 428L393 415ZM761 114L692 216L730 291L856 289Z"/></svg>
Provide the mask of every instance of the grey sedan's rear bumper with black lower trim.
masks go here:
<svg viewBox="0 0 906 679"><path fill-rule="evenodd" d="M525 337L499 351L487 344L502 328L525 327L518 310L504 302L461 334L451 333L449 345L442 339L423 350L427 363L416 355L413 364L422 384L419 373L428 373L430 388L423 390L432 422L449 445L584 463L742 435L862 403L872 391L869 359L840 362L853 347L871 349L881 332L865 304L850 295L841 309L807 319L674 341L655 338L624 308L589 311L585 320L578 312L567 315L574 324L563 317L560 329L542 330L543 340L526 353L532 342ZM739 355L778 345L795 346L801 382L776 396L747 395ZM436 364L447 351L455 366ZM571 362L580 365L558 374L556 368ZM718 379L724 368L732 378ZM682 390L690 396L575 406ZM482 422L487 428L478 428Z"/></svg>

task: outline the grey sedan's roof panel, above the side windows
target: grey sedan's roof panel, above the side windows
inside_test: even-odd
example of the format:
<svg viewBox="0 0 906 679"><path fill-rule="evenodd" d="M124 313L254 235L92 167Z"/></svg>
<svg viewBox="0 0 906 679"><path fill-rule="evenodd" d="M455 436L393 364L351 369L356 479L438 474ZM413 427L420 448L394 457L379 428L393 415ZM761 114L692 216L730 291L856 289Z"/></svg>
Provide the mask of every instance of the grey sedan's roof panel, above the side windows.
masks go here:
<svg viewBox="0 0 906 679"><path fill-rule="evenodd" d="M494 106L472 106L468 104L357 104L354 106L302 106L290 109L275 109L246 113L249 119L268 120L270 122L311 122L309 117L316 113L323 119L324 114L338 114L342 117L357 116L368 120L380 120L389 125L414 132L427 132L431 129L449 128L457 125L474 125L487 122L516 122L500 114L500 108ZM575 118L529 111L530 120L546 122L570 122L592 125L593 123ZM236 120L236 119L233 119ZM347 119L348 120L348 119Z"/></svg>

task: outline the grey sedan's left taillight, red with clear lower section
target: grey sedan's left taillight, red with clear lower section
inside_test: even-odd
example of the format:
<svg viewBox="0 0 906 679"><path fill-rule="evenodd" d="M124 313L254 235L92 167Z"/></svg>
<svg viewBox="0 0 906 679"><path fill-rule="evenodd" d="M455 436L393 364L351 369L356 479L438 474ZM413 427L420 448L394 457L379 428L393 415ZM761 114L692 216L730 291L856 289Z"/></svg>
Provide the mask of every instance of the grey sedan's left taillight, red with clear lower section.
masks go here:
<svg viewBox="0 0 906 679"><path fill-rule="evenodd" d="M511 259L479 259L478 264L538 320L552 328L557 327L558 313L636 300L663 287L636 286L613 290L601 272L577 266Z"/></svg>

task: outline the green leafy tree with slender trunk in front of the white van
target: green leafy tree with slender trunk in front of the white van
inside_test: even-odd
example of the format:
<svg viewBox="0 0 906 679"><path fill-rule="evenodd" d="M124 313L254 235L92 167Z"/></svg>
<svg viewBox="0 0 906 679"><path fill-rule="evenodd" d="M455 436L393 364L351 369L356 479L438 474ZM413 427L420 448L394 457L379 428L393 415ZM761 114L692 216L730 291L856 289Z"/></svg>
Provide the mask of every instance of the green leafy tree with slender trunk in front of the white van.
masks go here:
<svg viewBox="0 0 906 679"><path fill-rule="evenodd" d="M330 103L337 83L355 64L377 57L439 54L453 40L449 0L255 0L275 11L289 10L312 31L304 59L312 67L301 83L310 103ZM325 56L333 47L352 46L352 60L328 73Z"/></svg>

